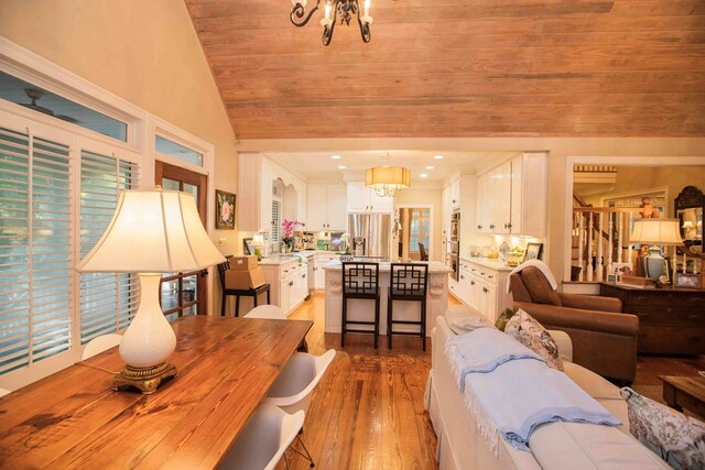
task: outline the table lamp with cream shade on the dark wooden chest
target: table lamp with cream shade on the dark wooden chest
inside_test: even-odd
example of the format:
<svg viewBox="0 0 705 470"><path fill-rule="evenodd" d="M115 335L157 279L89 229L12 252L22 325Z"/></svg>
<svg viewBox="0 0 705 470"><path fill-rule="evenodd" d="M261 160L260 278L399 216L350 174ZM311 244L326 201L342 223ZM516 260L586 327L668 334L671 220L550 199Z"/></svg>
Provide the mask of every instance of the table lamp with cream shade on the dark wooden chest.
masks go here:
<svg viewBox="0 0 705 470"><path fill-rule="evenodd" d="M649 248L649 256L643 259L647 277L658 281L663 274L665 260L661 254L661 245L682 245L679 219L636 219L629 239L632 243L653 244Z"/></svg>

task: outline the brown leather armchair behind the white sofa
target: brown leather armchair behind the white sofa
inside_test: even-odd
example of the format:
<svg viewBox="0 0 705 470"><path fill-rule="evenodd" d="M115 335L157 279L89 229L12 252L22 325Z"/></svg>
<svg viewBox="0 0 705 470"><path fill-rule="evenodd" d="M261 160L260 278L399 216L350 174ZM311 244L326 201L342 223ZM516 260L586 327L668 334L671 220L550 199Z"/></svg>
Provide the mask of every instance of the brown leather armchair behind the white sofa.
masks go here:
<svg viewBox="0 0 705 470"><path fill-rule="evenodd" d="M633 382L639 318L621 313L621 300L553 291L534 266L511 274L514 308L573 341L573 362L610 379Z"/></svg>

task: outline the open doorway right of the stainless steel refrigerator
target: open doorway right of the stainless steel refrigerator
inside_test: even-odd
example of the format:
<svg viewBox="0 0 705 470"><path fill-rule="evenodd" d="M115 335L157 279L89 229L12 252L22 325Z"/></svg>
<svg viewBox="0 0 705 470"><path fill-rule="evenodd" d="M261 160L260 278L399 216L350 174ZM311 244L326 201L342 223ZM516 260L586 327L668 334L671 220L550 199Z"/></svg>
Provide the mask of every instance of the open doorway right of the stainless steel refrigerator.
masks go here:
<svg viewBox="0 0 705 470"><path fill-rule="evenodd" d="M399 256L402 260L429 261L431 258L431 207L401 207L399 209L401 237Z"/></svg>

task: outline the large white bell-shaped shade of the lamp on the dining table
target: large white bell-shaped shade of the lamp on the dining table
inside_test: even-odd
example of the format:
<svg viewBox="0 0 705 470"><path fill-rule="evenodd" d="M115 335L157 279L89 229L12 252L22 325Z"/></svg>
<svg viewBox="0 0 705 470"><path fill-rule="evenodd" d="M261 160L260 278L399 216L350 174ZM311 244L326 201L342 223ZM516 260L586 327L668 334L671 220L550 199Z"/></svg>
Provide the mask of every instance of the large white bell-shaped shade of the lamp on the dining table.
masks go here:
<svg viewBox="0 0 705 470"><path fill-rule="evenodd" d="M76 269L82 272L197 271L225 258L213 244L194 197L167 190L126 190L108 229Z"/></svg>

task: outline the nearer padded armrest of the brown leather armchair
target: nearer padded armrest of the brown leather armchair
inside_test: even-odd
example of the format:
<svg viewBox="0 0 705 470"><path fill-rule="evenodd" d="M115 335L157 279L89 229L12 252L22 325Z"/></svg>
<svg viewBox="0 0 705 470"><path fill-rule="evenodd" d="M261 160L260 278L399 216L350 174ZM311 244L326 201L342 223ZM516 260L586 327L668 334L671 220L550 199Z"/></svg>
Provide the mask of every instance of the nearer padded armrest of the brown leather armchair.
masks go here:
<svg viewBox="0 0 705 470"><path fill-rule="evenodd" d="M514 302L514 308L523 309L546 328L570 328L629 337L637 337L639 334L639 318L636 315L525 302Z"/></svg>

